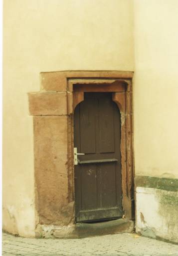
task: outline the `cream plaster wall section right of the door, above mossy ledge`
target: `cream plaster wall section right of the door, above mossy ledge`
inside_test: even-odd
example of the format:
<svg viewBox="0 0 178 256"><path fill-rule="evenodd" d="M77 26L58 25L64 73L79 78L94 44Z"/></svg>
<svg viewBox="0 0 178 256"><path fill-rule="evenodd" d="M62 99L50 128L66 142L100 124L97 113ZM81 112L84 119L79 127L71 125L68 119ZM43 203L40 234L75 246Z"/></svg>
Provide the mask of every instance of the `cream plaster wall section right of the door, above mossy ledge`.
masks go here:
<svg viewBox="0 0 178 256"><path fill-rule="evenodd" d="M177 0L134 0L137 175L178 178L177 10Z"/></svg>

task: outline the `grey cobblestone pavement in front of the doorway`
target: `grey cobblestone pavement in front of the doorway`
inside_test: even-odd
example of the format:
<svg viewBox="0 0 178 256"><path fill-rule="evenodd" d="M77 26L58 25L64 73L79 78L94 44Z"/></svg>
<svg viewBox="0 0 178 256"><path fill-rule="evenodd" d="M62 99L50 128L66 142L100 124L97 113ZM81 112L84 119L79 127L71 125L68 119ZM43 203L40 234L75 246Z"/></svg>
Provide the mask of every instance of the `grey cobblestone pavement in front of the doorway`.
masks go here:
<svg viewBox="0 0 178 256"><path fill-rule="evenodd" d="M178 256L178 245L120 233L80 239L23 238L2 234L2 255Z"/></svg>

